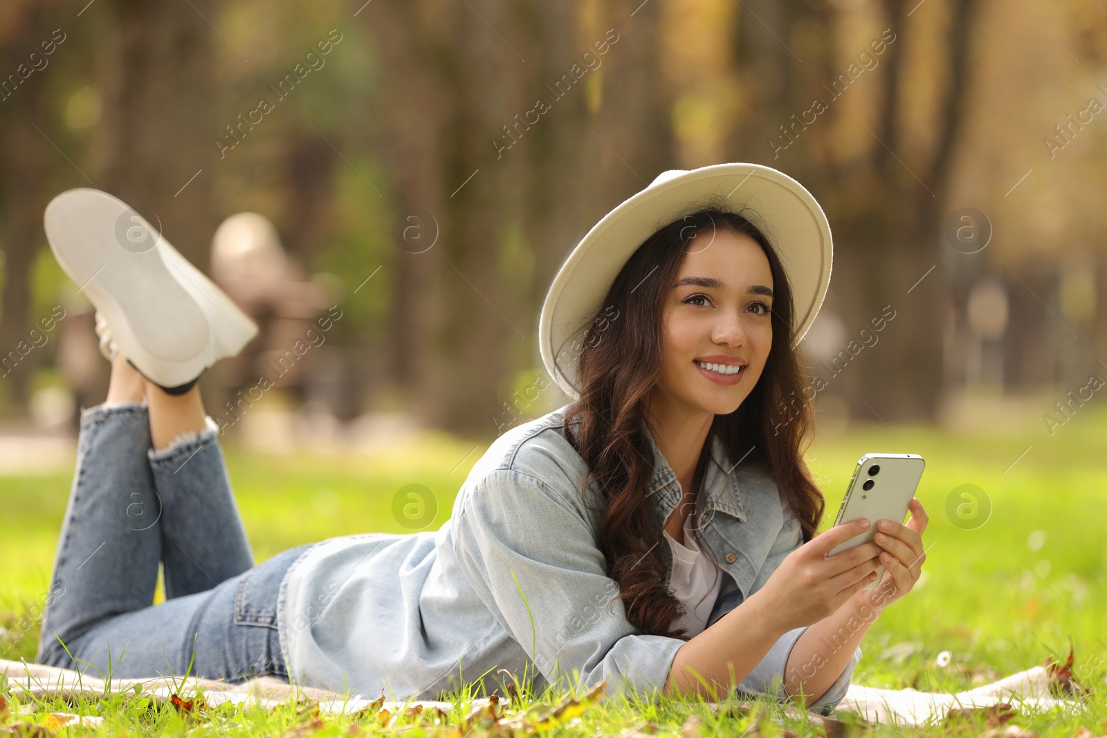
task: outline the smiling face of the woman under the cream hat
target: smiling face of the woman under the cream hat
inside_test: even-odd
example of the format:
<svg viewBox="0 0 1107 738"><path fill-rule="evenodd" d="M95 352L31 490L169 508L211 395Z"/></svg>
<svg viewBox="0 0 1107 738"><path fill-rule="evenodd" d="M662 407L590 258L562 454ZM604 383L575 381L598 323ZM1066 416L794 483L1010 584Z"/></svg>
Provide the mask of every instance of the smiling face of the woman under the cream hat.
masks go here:
<svg viewBox="0 0 1107 738"><path fill-rule="evenodd" d="M773 273L748 236L701 231L683 257L662 312L665 405L693 413L737 409L773 344Z"/></svg>

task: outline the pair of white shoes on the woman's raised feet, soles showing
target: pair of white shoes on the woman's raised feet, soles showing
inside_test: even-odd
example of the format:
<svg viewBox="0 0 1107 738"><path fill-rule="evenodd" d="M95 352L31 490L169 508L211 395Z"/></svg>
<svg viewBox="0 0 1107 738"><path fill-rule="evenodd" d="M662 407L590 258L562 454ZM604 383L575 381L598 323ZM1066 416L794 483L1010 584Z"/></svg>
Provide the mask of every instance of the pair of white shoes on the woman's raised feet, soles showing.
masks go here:
<svg viewBox="0 0 1107 738"><path fill-rule="evenodd" d="M193 382L257 335L223 290L118 198L70 189L43 221L58 263L96 308L101 351L117 351L162 387Z"/></svg>

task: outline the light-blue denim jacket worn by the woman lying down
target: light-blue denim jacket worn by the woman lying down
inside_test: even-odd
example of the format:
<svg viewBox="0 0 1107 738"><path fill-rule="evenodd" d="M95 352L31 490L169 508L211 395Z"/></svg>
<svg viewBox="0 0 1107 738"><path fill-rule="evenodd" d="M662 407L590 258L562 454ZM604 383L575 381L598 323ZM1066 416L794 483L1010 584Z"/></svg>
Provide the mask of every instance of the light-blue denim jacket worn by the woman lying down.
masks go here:
<svg viewBox="0 0 1107 738"><path fill-rule="evenodd" d="M383 689L434 699L483 676L489 692L501 692L498 669L517 677L537 669L538 688L607 680L617 692L660 693L685 641L641 633L612 601L619 590L596 543L598 512L580 492L587 466L562 428L568 407L497 438L439 530L345 536L302 553L278 600L289 678L363 697ZM681 488L645 435L655 459L645 495L660 531ZM736 465L714 436L708 443L700 532L726 574L710 627L764 586L803 536L765 470ZM782 697L788 654L805 630L780 636L739 690ZM860 656L857 648L811 709L828 714L845 697Z"/></svg>

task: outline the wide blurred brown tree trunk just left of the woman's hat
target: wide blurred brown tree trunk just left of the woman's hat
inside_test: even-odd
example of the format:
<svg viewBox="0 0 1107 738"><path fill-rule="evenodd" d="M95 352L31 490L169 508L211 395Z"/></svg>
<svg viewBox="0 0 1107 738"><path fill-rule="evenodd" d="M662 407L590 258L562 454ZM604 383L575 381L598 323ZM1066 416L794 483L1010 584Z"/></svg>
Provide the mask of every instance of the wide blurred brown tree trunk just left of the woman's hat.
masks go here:
<svg viewBox="0 0 1107 738"><path fill-rule="evenodd" d="M401 189L393 232L415 225L412 207L430 214L416 226L424 235L437 231L421 253L416 242L397 243L393 372L424 423L484 435L514 370L506 343L527 335L501 300L503 168L492 145L524 110L514 92L525 62L507 40L514 18L490 2L383 3L364 17L386 64L407 72L402 89L385 81L384 131Z"/></svg>

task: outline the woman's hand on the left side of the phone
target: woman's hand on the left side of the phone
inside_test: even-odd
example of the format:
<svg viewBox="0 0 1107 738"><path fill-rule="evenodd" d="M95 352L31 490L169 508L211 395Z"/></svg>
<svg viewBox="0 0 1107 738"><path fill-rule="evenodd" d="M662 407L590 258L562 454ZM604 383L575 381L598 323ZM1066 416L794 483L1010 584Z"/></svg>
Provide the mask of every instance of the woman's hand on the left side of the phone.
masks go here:
<svg viewBox="0 0 1107 738"><path fill-rule="evenodd" d="M785 557L756 593L765 597L784 630L823 620L873 582L881 550L876 543L861 543L827 555L839 543L868 529L868 520L851 520L816 536Z"/></svg>

